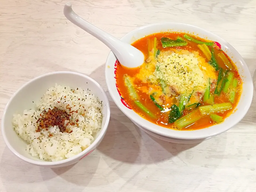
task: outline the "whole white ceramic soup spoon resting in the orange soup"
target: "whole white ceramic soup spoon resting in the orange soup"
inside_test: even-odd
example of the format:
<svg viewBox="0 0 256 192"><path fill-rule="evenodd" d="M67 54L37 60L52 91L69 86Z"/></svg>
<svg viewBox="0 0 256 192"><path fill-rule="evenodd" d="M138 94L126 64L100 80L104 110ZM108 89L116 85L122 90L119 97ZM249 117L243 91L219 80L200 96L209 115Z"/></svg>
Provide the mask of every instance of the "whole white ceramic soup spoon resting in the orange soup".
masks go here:
<svg viewBox="0 0 256 192"><path fill-rule="evenodd" d="M133 68L141 66L144 62L145 56L140 50L128 43L120 41L119 39L113 37L105 31L102 31L98 27L95 27L91 23L79 17L72 10L72 5L70 2L65 4L63 13L69 21L85 30L87 33L90 33L101 42L103 42L107 47L109 47L121 65Z"/></svg>

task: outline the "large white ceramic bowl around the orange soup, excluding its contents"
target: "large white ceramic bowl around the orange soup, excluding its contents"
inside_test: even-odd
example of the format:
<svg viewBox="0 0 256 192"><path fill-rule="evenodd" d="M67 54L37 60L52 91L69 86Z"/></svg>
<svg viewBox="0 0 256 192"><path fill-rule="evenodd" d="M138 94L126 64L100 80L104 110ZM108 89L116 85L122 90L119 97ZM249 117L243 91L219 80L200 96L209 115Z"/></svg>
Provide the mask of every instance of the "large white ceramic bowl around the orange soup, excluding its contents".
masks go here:
<svg viewBox="0 0 256 192"><path fill-rule="evenodd" d="M118 85L116 85L115 79L115 65L117 65L117 58L112 52L110 52L106 61L105 75L109 93L112 99L114 100L115 104L119 107L119 109L121 109L121 111L127 117L129 117L137 125L143 127L146 130L149 130L159 135L163 135L165 137L177 139L205 139L229 130L239 121L241 121L241 119L245 116L251 105L251 101L253 98L253 82L250 75L250 71L246 66L245 61L243 60L241 55L234 49L234 47L232 47L222 38L199 27L182 23L155 23L151 25L142 26L138 29L135 29L127 33L124 37L121 38L121 40L127 43L133 43L134 41L142 37L145 37L146 35L166 31L177 31L194 34L198 37L207 38L211 41L216 41L220 43L222 50L225 51L226 54L230 58L232 58L233 62L237 65L239 74L241 75L241 78L243 80L243 92L241 95L241 99L238 103L237 109L234 110L234 113L231 114L228 118L226 118L223 123L194 131L177 131L172 129L166 129L164 127L151 123L146 119L142 118L137 113L135 113L132 109L129 109L129 106L127 106L126 102L122 99L122 95L119 94L117 87Z"/></svg>

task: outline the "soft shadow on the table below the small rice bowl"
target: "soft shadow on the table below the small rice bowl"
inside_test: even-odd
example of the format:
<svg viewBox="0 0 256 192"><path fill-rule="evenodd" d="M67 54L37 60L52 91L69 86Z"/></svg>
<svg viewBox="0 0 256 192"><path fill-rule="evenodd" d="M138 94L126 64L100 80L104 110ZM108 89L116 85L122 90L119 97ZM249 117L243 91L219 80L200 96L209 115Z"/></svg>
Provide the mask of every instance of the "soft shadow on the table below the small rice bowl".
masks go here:
<svg viewBox="0 0 256 192"><path fill-rule="evenodd" d="M0 178L6 191L17 191L18 188L30 191L31 185L35 186L35 191L40 191L43 185L52 192L74 189L79 192L90 186L99 161L99 154L92 153L76 164L49 168L24 162L5 147L0 161Z"/></svg>

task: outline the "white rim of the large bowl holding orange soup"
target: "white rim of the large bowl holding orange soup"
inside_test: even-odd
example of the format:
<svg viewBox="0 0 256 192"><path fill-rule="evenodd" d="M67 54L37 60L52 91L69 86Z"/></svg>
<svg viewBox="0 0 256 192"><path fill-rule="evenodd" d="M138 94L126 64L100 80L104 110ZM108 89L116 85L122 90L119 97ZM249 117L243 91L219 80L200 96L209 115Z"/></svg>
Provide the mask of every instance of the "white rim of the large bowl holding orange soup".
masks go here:
<svg viewBox="0 0 256 192"><path fill-rule="evenodd" d="M148 27L152 27L152 26L157 26L157 25L180 25L180 26L189 26L189 27L193 27L195 30L200 30L200 31L204 31L205 33L208 33L208 34L211 34L215 37L217 37L218 39L220 39L221 41L225 42L225 46L227 47L230 47L232 49L234 49L233 51L231 51L231 53L234 53L234 51L236 52L236 55L238 55L239 59L242 61L242 63L244 63L245 65L245 68L249 71L249 68L248 66L246 65L246 62L243 60L242 56L238 53L238 51L233 47L231 46L227 41L225 41L224 39L222 39L221 37L219 37L218 35L208 31L208 30L205 30L205 29L202 29L201 27L197 27L197 26L194 26L194 25L190 25L190 24L185 24L185 23L177 23L177 22L159 22L159 23L152 23L152 24L149 24L149 25L144 25L144 26L141 26L141 27L138 27L132 31L130 31L129 33L125 34L120 40L123 40L126 38L126 36L129 36L129 35L136 35L139 33L140 30L143 30L145 28L148 28ZM171 29L171 28L170 28ZM161 33L161 30L159 30L159 33ZM151 33L150 33L151 34ZM147 35L150 35L150 34L147 34ZM146 36L146 35L145 35ZM134 41L133 41L134 42ZM142 122L140 121L137 121L137 119L133 118L133 115L130 115L129 113L127 113L124 109L125 109L125 106L123 105L119 105L119 103L117 102L117 99L115 98L115 93L112 89L110 89L111 87L111 83L110 81L108 80L108 74L107 74L107 68L108 68L108 65L110 63L110 60L112 60L113 58L111 57L115 57L114 53L112 51L110 51L108 57L107 57L107 60L106 60L106 66L105 66L105 77L106 77L106 83L107 83L107 87L108 87L108 90L109 90L109 93L110 93L110 96L111 98L113 99L113 101L115 102L115 104L118 106L118 108L130 119L133 119L132 121L134 121L135 123L137 123L138 125L140 125L141 127L145 128L146 130L149 130L153 133L156 133L156 134L159 134L159 135L163 135L163 136L166 136L166 137L172 137L172 138L177 138L177 139L205 139L205 138L208 138L208 137L214 137L218 134L221 134L221 133L224 133L225 131L231 129L233 126L235 126L237 123L239 123L243 117L245 117L245 115L247 114L250 106L251 106L251 102L252 102L252 99L253 99L253 81L252 81L252 77L251 77L251 74L249 75L249 86L250 86L250 95L247 95L247 105L246 107L244 108L244 113L243 115L241 115L238 119L236 119L235 123L233 123L232 125L230 126L227 126L228 128L225 128L223 127L223 129L221 129L221 131L214 131L213 133L209 134L209 133L200 133L200 134L197 134L196 132L200 132L200 130L204 130L204 129L207 129L209 127L206 127L204 129L198 129L198 130L191 130L190 132L194 132L195 134L193 136L181 136L180 134L178 134L177 132L183 132L183 131L180 131L180 130L174 130L177 134L175 135L170 135L170 134L166 134L165 132L162 132L162 131L159 131L159 130L155 130L154 128L152 127L147 127L145 125L143 125ZM116 57L115 57L116 58ZM244 91L244 90L243 90ZM232 116L232 114L230 115ZM229 117L230 117L229 116ZM140 117L139 119L143 119L145 121L147 121L146 119ZM142 121L143 121L142 120ZM149 122L149 121L147 121ZM157 125L158 127L161 127L159 125ZM212 126L210 126L212 127Z"/></svg>

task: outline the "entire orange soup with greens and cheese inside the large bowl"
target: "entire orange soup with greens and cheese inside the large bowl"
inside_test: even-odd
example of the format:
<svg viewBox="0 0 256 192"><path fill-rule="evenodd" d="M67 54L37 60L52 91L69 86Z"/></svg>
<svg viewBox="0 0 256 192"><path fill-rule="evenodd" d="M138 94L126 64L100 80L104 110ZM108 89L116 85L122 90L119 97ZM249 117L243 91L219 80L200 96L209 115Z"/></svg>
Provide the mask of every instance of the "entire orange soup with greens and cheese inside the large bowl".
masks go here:
<svg viewBox="0 0 256 192"><path fill-rule="evenodd" d="M237 106L242 80L219 43L185 33L156 33L132 44L145 55L137 68L118 65L126 103L148 121L175 130L206 128Z"/></svg>

